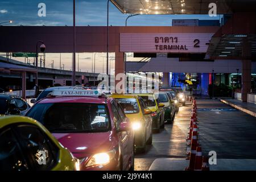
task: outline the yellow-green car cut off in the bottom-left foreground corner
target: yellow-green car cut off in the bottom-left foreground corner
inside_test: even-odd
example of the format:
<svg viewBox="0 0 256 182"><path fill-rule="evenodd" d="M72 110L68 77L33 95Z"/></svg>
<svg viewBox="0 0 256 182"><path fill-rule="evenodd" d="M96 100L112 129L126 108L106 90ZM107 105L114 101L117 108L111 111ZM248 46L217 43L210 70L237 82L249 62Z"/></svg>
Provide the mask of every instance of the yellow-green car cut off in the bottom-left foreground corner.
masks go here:
<svg viewBox="0 0 256 182"><path fill-rule="evenodd" d="M34 119L0 115L0 171L79 170L79 160Z"/></svg>

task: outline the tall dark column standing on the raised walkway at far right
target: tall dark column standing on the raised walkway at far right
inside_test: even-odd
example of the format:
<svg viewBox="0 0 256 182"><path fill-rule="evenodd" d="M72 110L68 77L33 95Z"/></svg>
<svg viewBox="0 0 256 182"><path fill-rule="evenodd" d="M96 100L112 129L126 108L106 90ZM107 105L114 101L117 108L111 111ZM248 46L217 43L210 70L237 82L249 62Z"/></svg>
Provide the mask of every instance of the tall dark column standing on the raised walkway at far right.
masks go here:
<svg viewBox="0 0 256 182"><path fill-rule="evenodd" d="M251 45L247 38L242 42L242 102L247 102L247 94L251 92Z"/></svg>

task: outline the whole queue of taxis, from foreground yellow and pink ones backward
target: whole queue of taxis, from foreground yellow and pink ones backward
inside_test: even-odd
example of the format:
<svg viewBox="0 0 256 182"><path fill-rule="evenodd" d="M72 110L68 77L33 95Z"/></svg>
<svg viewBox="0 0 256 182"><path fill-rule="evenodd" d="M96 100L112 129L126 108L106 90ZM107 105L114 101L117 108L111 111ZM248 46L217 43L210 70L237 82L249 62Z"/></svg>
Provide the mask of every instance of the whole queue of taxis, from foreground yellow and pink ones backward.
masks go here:
<svg viewBox="0 0 256 182"><path fill-rule="evenodd" d="M5 154L0 161L13 165L13 169L39 166L34 169L133 170L135 152L145 152L146 144L152 144L153 131L164 128L165 121L174 121L177 111L177 101L163 91L158 97L155 94L106 96L99 90L59 87L43 90L38 98L32 101L35 104L25 114L27 117L9 116L8 121L1 117L2 123L7 124L0 125L0 148L3 148L0 155ZM32 129L27 129L26 137L19 137L16 133L19 125L36 127L46 138L36 144L39 139L32 134ZM15 133L17 143L22 143L22 147L15 146L15 142L13 145L23 160L9 162L16 152L10 152L14 147L7 138L1 137L7 130ZM24 152L30 150L31 145L35 145L33 150ZM67 156L60 155L60 151L65 151ZM47 164L52 164L49 167L37 164L42 159L42 152L47 154L44 155ZM20 161L27 168L15 168ZM63 161L70 161L69 166L59 164ZM5 167L0 166L0 169Z"/></svg>

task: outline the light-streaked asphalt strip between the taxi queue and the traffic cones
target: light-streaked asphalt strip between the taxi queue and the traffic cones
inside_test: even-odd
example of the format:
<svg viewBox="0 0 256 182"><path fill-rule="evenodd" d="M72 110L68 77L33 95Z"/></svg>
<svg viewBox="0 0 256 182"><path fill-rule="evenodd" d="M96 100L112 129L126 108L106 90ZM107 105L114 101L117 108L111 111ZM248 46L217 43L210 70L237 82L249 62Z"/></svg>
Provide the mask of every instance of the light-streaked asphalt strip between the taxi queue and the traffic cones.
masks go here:
<svg viewBox="0 0 256 182"><path fill-rule="evenodd" d="M185 158L189 117L191 104L180 106L179 113L173 124L166 124L160 133L153 135L151 146L147 146L146 153L135 155L135 170L146 171L156 158Z"/></svg>

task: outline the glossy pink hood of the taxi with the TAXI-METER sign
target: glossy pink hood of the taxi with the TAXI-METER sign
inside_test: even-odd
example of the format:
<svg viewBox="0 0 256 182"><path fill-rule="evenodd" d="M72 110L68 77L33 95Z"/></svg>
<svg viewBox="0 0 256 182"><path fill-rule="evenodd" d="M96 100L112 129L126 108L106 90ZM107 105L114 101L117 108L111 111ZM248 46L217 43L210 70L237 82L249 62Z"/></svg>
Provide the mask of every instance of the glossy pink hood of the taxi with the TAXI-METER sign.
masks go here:
<svg viewBox="0 0 256 182"><path fill-rule="evenodd" d="M76 154L96 154L110 150L113 142L112 132L104 133L53 133L59 142L67 147L77 158Z"/></svg>

